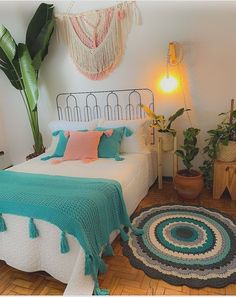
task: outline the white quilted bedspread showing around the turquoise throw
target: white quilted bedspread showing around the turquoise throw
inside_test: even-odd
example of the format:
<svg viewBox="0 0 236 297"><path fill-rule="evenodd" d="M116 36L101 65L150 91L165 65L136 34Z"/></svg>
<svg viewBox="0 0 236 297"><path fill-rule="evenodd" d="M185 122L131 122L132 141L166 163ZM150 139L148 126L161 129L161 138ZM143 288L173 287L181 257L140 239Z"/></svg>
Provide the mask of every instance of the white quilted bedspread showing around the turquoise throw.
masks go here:
<svg viewBox="0 0 236 297"><path fill-rule="evenodd" d="M99 159L84 164L67 161L52 165L51 161L31 161L16 165L9 170L28 173L74 177L100 177L120 182L129 215L133 213L156 178L156 154L124 154L124 161ZM43 270L63 283L67 283L64 294L91 295L94 282L84 275L84 252L77 240L67 235L70 252L60 253L60 230L45 221L35 220L40 236L29 239L28 219L15 215L3 215L7 232L0 236L0 259L23 271ZM113 236L114 239L114 236ZM20 251L20 253L19 253Z"/></svg>

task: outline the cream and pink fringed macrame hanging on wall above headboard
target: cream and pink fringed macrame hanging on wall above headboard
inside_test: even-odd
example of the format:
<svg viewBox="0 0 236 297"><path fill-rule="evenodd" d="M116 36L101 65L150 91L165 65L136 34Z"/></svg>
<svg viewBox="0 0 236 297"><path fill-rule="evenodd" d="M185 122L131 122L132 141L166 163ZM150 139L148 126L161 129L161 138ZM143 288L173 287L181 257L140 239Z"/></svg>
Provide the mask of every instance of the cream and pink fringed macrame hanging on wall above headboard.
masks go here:
<svg viewBox="0 0 236 297"><path fill-rule="evenodd" d="M108 76L121 62L132 24L141 25L136 3L79 14L56 15L57 33L81 73L92 80Z"/></svg>

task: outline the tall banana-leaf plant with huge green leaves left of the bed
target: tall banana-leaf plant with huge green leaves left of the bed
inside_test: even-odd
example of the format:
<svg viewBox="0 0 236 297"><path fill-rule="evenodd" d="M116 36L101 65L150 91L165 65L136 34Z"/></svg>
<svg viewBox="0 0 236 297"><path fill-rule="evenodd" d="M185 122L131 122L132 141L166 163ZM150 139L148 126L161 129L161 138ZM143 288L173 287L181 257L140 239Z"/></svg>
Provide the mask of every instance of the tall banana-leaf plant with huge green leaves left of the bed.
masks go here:
<svg viewBox="0 0 236 297"><path fill-rule="evenodd" d="M17 45L10 32L0 24L0 69L20 91L33 134L34 155L45 150L38 122L38 74L48 53L53 30L53 5L45 3L39 5L29 23L25 44Z"/></svg>

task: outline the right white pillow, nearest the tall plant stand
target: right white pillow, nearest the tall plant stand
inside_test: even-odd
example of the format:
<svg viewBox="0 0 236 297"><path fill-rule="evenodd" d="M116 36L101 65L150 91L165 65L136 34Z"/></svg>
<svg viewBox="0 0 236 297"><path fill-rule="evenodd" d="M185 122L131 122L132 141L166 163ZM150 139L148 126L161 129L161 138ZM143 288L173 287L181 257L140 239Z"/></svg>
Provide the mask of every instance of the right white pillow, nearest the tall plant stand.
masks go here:
<svg viewBox="0 0 236 297"><path fill-rule="evenodd" d="M130 137L124 136L121 142L121 153L147 153L149 148L146 144L148 136L148 127L150 126L150 119L140 120L119 120L106 121L100 120L98 127L101 128L118 128L127 127L133 134Z"/></svg>

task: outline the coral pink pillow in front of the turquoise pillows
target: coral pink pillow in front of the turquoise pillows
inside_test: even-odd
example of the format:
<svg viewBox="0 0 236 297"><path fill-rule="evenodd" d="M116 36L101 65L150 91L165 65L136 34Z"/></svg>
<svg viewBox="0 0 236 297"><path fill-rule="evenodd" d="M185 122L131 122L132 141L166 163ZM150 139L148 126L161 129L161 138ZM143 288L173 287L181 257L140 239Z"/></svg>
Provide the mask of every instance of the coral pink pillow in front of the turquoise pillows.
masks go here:
<svg viewBox="0 0 236 297"><path fill-rule="evenodd" d="M98 159L98 145L102 134L102 131L67 132L69 139L62 161Z"/></svg>

